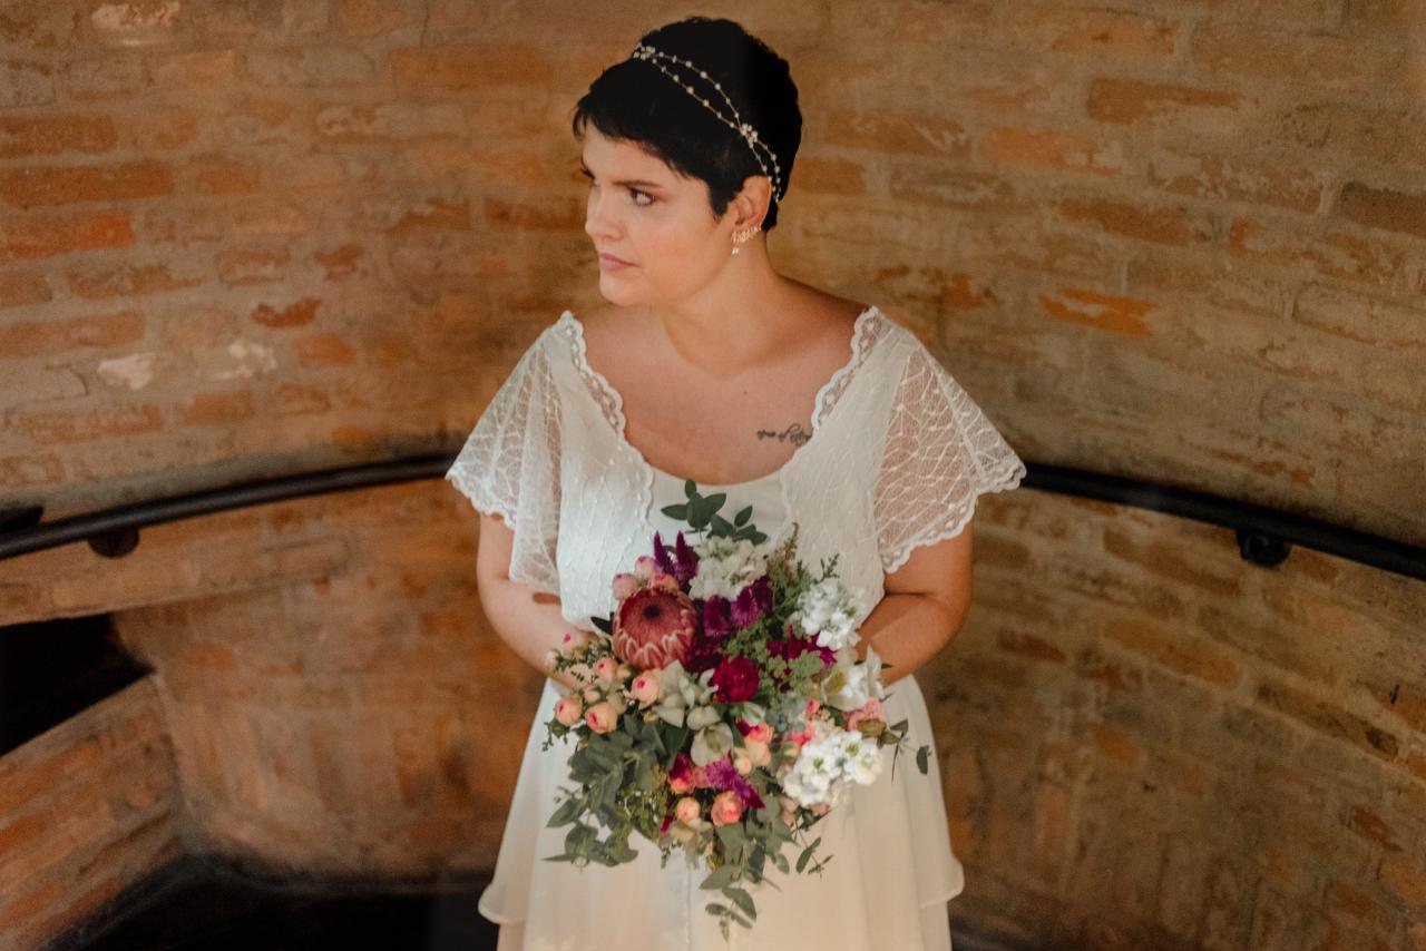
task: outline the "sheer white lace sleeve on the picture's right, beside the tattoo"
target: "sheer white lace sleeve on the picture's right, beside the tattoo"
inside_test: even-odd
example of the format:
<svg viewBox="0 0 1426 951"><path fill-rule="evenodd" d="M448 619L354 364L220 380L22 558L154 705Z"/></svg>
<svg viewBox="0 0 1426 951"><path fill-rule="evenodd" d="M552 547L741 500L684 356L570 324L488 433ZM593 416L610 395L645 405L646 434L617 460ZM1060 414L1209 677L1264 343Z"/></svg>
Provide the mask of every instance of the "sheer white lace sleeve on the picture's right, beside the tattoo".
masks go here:
<svg viewBox="0 0 1426 951"><path fill-rule="evenodd" d="M913 549L958 535L977 496L1012 489L1024 475L1025 463L970 394L917 346L897 385L873 486L886 573Z"/></svg>

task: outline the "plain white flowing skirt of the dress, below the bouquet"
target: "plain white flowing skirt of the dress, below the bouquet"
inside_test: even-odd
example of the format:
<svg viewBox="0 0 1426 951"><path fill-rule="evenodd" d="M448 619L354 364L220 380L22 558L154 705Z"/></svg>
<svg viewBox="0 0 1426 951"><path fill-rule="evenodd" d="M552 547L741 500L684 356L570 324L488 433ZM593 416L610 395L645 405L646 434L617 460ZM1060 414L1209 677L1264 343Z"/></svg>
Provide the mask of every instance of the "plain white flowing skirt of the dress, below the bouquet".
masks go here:
<svg viewBox="0 0 1426 951"><path fill-rule="evenodd" d="M568 826L548 828L560 787L569 788L572 736L549 750L545 723L565 687L546 679L515 783L495 874L479 898L481 914L501 925L499 951L950 951L947 901L965 885L951 850L931 723L915 677L891 684L883 700L888 723L908 720L907 747L896 760L883 750L881 776L854 786L848 801L823 817L806 841L821 837L820 874L780 873L750 888L753 927L730 925L724 940L700 890L707 874L680 851L660 867L657 845L640 837L639 857L613 868L543 861L565 851ZM931 747L930 768L915 750ZM797 851L787 847L790 863Z"/></svg>

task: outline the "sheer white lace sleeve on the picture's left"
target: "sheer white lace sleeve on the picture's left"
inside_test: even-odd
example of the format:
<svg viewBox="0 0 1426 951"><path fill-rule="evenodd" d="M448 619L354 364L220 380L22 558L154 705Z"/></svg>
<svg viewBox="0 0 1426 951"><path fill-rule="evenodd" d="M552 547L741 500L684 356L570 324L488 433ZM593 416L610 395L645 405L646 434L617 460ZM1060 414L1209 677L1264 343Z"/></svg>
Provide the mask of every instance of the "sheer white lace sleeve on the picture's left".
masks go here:
<svg viewBox="0 0 1426 951"><path fill-rule="evenodd" d="M515 533L509 579L559 595L560 413L545 342L520 355L445 478Z"/></svg>

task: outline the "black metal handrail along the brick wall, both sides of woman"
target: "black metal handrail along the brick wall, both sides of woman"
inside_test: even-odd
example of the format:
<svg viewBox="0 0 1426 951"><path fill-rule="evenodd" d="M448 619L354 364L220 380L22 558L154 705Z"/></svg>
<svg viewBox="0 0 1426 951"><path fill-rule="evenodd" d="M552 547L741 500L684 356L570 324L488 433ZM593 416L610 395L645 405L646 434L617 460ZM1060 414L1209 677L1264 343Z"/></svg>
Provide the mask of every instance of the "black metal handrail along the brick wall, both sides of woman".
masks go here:
<svg viewBox="0 0 1426 951"><path fill-rule="evenodd" d="M267 502L301 499L376 485L445 475L453 455L419 455L275 479L255 479L185 495L114 506L41 523L40 508L0 512L0 560L71 542L88 542L100 555L117 557L138 543L138 530L198 515ZM1302 545L1336 557L1426 580L1426 548L1358 532L1303 515L1238 502L1206 492L1127 479L1124 476L1027 463L1022 488L1060 492L1115 505L1165 512L1235 529L1239 555L1258 565L1278 565L1291 546Z"/></svg>

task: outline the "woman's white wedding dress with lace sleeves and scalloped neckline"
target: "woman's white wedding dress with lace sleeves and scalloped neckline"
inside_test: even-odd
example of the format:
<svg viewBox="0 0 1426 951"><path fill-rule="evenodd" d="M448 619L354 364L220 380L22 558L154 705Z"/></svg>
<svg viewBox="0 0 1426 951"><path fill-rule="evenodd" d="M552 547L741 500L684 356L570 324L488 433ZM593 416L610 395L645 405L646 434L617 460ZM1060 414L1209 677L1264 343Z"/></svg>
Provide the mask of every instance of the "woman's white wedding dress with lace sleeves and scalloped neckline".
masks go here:
<svg viewBox="0 0 1426 951"><path fill-rule="evenodd" d="M857 318L850 359L817 394L813 435L777 472L734 485L723 515L747 505L776 545L799 522L799 557L820 573L840 555L838 576L861 590L866 610L884 575L921 545L954 536L983 492L1011 489L1024 463L980 406L921 342L878 308ZM684 482L650 466L625 438L620 395L589 365L583 325L565 311L525 351L456 456L449 479L481 512L515 532L509 576L558 595L565 620L593 630L615 607L610 580L652 553L653 532L672 546L687 528L660 509L684 500ZM864 615L863 615L864 617ZM700 891L706 865L682 853L660 868L659 848L635 834L633 863L607 868L543 861L563 853L568 827L549 828L569 787L566 740L540 750L545 723L565 689L545 682L533 711L493 880L479 911L501 927L499 951L707 951L819 948L947 951L947 901L964 887L941 797L935 739L915 676L897 680L887 720L910 720L891 771L857 786L809 836L830 857L814 874L753 888L752 930L724 941ZM914 751L931 747L930 771ZM955 781L955 777L948 777ZM789 861L796 860L796 853ZM776 885L776 887L774 887Z"/></svg>

